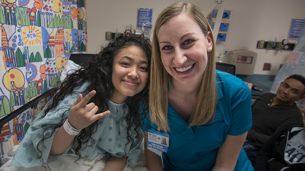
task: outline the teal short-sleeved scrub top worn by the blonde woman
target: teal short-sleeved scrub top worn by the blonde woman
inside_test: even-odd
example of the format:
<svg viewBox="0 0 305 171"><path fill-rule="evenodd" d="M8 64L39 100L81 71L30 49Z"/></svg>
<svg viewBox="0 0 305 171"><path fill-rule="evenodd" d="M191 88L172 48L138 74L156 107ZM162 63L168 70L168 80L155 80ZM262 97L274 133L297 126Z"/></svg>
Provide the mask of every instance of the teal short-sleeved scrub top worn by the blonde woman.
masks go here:
<svg viewBox="0 0 305 171"><path fill-rule="evenodd" d="M213 121L188 128L188 123L168 103L169 147L167 153L163 152L163 170L212 170L218 148L227 134L241 135L252 127L248 86L241 79L221 71L216 71L216 79L219 101ZM142 130L148 129L157 130L157 126L144 119ZM234 171L253 171L243 148Z"/></svg>

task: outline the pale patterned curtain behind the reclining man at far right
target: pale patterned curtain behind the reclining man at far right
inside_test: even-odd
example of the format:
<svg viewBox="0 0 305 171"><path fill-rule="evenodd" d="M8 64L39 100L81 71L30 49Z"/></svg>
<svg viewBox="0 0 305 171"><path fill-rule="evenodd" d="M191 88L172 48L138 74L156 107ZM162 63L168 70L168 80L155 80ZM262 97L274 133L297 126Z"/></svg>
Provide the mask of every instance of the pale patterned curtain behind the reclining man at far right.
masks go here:
<svg viewBox="0 0 305 171"><path fill-rule="evenodd" d="M294 50L276 74L270 92L276 93L280 83L293 74L298 74L305 77L305 28L303 28L303 31L298 42L296 43L296 46L294 47ZM298 101L297 105L303 112L304 116L305 99Z"/></svg>

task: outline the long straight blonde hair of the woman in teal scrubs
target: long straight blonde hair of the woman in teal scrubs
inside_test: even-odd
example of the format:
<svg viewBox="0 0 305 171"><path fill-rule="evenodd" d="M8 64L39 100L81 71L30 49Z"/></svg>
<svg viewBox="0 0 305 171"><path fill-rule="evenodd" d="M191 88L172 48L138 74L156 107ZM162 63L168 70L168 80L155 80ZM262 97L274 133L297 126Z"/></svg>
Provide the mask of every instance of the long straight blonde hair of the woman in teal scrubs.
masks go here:
<svg viewBox="0 0 305 171"><path fill-rule="evenodd" d="M160 55L158 40L158 31L162 24L168 22L174 16L186 13L191 16L201 27L203 34L212 33L212 29L206 20L202 10L191 3L174 3L159 14L153 31L152 38L152 61L150 72L149 89L149 115L151 121L163 131L170 131L167 123L167 105L168 105L168 84L171 76L165 70ZM212 41L213 34L211 34ZM214 45L214 43L213 43ZM206 48L206 47L202 47ZM215 78L215 58L214 46L212 51L208 52L208 62L203 73L203 79L200 87L200 94L196 104L195 113L191 117L189 127L194 125L203 125L214 119L215 108L217 105L218 94Z"/></svg>

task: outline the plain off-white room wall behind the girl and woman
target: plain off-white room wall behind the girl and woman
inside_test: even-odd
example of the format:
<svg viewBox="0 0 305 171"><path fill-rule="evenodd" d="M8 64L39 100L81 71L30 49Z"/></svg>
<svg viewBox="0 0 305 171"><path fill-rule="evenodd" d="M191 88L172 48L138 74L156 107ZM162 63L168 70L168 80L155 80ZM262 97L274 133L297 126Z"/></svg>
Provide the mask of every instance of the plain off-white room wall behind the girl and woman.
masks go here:
<svg viewBox="0 0 305 171"><path fill-rule="evenodd" d="M187 1L208 9L214 0ZM100 45L107 44L105 32L123 32L125 27L136 27L137 9L152 8L152 24L158 13L173 0L88 0L88 53L97 53ZM286 39L292 18L305 19L304 0L226 0L225 10L231 10L232 16L226 42L217 42L216 51L248 47L258 53L254 74L275 75L279 65L283 64L291 51L256 49L257 40L277 41ZM141 30L137 30L141 32ZM289 40L289 43L296 41ZM271 63L271 71L262 71L264 63Z"/></svg>

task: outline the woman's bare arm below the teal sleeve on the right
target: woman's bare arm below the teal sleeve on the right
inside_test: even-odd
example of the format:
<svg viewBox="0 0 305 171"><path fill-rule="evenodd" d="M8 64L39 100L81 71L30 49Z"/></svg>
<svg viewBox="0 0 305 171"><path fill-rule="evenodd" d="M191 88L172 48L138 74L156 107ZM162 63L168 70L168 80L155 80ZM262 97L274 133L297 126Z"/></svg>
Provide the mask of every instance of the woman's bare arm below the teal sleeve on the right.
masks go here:
<svg viewBox="0 0 305 171"><path fill-rule="evenodd" d="M233 171L246 137L247 132L237 136L227 135L219 147L212 171Z"/></svg>

